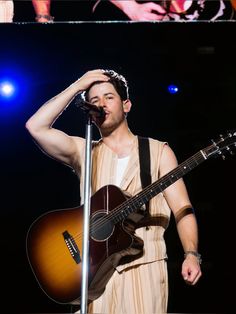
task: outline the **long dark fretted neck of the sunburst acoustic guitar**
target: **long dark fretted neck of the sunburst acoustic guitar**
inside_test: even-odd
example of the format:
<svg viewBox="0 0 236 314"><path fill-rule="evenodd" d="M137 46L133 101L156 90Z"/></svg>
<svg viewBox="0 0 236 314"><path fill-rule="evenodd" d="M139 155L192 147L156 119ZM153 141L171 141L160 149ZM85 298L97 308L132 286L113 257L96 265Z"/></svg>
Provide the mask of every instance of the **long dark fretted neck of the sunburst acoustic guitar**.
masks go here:
<svg viewBox="0 0 236 314"><path fill-rule="evenodd" d="M185 174L200 165L206 159L206 155L202 150L200 150L195 155L182 162L178 167L161 177L159 180L148 185L135 196L127 199L124 203L113 210L112 213L110 213L110 219L114 224L126 219L131 213L136 211L138 208L141 208L150 199L164 191L171 184L182 178Z"/></svg>

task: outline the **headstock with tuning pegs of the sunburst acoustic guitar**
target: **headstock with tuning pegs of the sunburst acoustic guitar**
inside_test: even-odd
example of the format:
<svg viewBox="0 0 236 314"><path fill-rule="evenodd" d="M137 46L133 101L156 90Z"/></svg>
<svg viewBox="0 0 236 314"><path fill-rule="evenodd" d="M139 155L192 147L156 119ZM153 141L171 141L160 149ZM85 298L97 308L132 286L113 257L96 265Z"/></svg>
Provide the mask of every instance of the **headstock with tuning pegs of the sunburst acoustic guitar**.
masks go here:
<svg viewBox="0 0 236 314"><path fill-rule="evenodd" d="M220 135L217 139L211 140L212 144L202 150L205 158L213 155L220 155L225 159L226 154L234 154L236 149L236 130L228 131L225 135Z"/></svg>

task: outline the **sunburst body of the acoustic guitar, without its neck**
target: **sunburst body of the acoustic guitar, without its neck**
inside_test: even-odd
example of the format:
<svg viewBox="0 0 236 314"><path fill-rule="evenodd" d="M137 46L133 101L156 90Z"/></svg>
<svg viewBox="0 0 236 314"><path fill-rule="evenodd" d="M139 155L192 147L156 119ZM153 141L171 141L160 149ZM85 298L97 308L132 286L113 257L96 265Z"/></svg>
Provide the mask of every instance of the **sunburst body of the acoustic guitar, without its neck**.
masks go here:
<svg viewBox="0 0 236 314"><path fill-rule="evenodd" d="M103 293L123 258L135 259L142 254L142 240L124 221L106 221L107 215L125 200L122 191L113 185L91 197L88 301ZM83 206L48 212L29 229L27 255L31 268L42 290L58 303L80 303L82 242Z"/></svg>

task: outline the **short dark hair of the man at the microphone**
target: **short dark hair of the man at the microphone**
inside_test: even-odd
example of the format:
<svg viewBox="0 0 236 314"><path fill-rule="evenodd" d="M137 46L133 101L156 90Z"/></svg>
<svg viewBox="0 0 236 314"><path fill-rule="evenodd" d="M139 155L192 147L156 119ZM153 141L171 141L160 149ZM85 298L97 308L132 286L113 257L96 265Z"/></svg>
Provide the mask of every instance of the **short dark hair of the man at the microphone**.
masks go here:
<svg viewBox="0 0 236 314"><path fill-rule="evenodd" d="M110 78L108 83L111 83L114 86L121 100L129 99L129 87L128 87L126 78L123 75L115 72L114 70L103 70L103 71L104 71L103 74L105 74L106 76ZM101 84L101 83L104 83L104 81L93 82L93 84L91 84L89 88L87 88L87 90L85 90L82 93L82 97L88 101L88 93L91 87L96 84Z"/></svg>

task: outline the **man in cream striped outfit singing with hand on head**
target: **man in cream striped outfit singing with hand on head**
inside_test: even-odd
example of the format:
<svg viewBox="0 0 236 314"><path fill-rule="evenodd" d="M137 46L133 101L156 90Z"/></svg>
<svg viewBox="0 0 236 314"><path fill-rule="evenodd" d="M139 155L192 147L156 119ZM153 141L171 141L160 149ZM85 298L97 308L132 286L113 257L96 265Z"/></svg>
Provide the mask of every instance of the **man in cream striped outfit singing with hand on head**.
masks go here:
<svg viewBox="0 0 236 314"><path fill-rule="evenodd" d="M82 195L85 139L68 136L52 126L78 93L84 93L91 104L102 107L105 112L103 118L94 117L101 139L93 145L92 193L104 185L114 184L135 195L142 190L139 144L127 123L131 101L122 75L100 69L85 73L39 108L27 121L26 128L44 152L76 171ZM150 173L152 181L156 181L174 169L177 160L165 142L149 139L149 147ZM136 225L136 235L144 241L142 256L116 267L105 292L89 305L89 313L166 313L168 278L163 235L171 210L185 251L182 276L190 285L195 285L200 278L197 223L183 180L176 181L149 203L150 217L165 217L167 224Z"/></svg>

